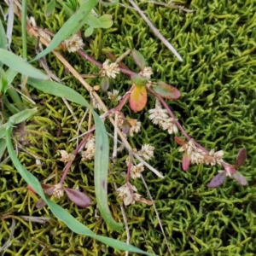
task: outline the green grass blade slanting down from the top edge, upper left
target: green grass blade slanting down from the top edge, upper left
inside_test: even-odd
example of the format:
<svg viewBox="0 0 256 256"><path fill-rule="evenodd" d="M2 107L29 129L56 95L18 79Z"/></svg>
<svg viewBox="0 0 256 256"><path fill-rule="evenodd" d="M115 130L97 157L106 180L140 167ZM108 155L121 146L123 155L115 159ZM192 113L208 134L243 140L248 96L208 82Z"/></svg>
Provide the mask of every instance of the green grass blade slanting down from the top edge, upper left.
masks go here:
<svg viewBox="0 0 256 256"><path fill-rule="evenodd" d="M44 55L49 54L54 50L61 42L68 37L73 36L79 29L84 26L87 18L86 16L90 14L91 9L96 6L96 0L88 0L65 22L61 29L55 34L55 37L52 38L50 44L40 52L32 61L36 61Z"/></svg>

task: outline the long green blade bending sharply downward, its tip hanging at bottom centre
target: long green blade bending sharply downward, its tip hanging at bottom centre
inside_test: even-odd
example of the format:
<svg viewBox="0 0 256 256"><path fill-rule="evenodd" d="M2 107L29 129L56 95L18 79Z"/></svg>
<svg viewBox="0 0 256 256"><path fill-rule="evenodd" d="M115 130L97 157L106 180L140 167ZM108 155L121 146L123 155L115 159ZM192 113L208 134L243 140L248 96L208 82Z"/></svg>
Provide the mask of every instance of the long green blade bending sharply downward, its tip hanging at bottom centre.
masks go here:
<svg viewBox="0 0 256 256"><path fill-rule="evenodd" d="M106 155L109 153L108 135L106 128L102 123L102 119L100 119L93 108L90 107L90 104L85 101L83 96L64 84L59 84L53 81L40 81L37 79L28 79L27 84L30 84L38 90L44 91L45 93L66 98L68 101L78 103L79 105L90 108L92 111L96 124L96 156L94 170L96 201L102 217L107 224L113 230L120 230L121 224L114 221L108 208L108 194L102 193L102 183L105 182L107 186L108 182L108 179L106 180L106 177L108 177L108 158Z"/></svg>

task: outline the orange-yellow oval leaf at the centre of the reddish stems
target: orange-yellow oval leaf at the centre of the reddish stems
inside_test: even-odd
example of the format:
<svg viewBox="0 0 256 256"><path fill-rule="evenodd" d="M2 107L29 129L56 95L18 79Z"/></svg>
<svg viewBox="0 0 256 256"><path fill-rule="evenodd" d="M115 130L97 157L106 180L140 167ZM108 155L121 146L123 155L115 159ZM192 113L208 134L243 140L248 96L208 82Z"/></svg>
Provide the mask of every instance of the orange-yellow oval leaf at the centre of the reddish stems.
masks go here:
<svg viewBox="0 0 256 256"><path fill-rule="evenodd" d="M137 112L143 110L147 103L147 90L143 86L135 86L131 90L130 95L130 108Z"/></svg>

